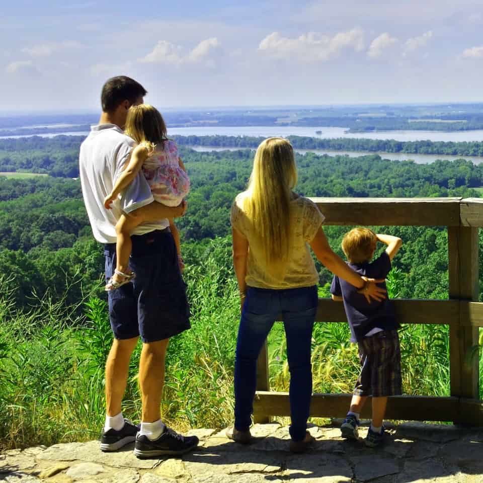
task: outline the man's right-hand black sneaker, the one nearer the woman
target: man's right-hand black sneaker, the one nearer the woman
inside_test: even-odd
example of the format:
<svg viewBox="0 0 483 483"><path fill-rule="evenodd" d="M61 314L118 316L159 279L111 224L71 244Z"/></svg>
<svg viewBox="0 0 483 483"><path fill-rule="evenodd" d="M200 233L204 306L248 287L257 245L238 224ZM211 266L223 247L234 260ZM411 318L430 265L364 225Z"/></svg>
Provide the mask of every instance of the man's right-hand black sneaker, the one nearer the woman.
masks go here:
<svg viewBox="0 0 483 483"><path fill-rule="evenodd" d="M182 436L167 426L165 432L154 441L138 434L134 443L134 454L138 458L184 454L196 448L198 443L197 436Z"/></svg>

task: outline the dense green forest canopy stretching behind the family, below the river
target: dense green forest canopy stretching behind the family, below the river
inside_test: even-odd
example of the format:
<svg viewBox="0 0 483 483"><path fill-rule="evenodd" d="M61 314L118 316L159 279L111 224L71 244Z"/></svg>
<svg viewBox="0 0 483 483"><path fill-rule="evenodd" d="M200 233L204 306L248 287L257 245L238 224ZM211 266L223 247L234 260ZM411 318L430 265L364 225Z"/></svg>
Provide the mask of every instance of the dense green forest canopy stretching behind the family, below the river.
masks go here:
<svg viewBox="0 0 483 483"><path fill-rule="evenodd" d="M65 150L70 150L74 157L79 142L67 137L42 139L43 147L38 148L31 144L35 140L27 141L23 150L15 151L19 160L31 156L35 149L39 157L42 152L50 152L52 156L55 152L60 154L58 142L64 143ZM0 149L5 151L5 148L0 144ZM189 210L178 220L178 225L184 256L196 265L212 243L209 240L226 240L229 235L230 206L235 195L247 185L254 153L251 149L197 152L181 147L181 154L192 181L192 191L188 197ZM52 175L61 166L63 162L59 159L57 165L44 169ZM464 160L418 165L381 159L374 154L348 158L306 153L297 155L297 166L296 191L305 196L476 197L478 191L474 188L483 186L483 167ZM404 247L395 260L395 266L405 274L401 296L444 297L447 292L445 230L441 227L381 229L404 240ZM346 230L347 227L327 227L331 244L341 255L339 246ZM223 250L220 270L229 271L228 249ZM103 296L99 291L102 267L102 249L92 238L78 180L0 176L0 270L13 277L17 284L19 304L30 303L32 289L39 295L49 290L55 297L61 297L69 286L70 302L91 291ZM319 264L317 267L323 289L331 275ZM428 279L431 283L427 283Z"/></svg>

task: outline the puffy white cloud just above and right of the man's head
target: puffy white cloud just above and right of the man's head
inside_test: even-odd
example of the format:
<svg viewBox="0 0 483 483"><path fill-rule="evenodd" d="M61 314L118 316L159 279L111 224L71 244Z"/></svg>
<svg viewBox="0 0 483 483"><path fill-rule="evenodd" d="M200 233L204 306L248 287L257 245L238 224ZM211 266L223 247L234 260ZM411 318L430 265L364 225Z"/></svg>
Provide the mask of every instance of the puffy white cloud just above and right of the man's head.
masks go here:
<svg viewBox="0 0 483 483"><path fill-rule="evenodd" d="M167 63L172 65L181 65L188 63L200 63L208 60L214 49L219 47L216 37L202 40L192 50L184 53L180 45L172 44L166 40L160 40L146 56L138 59L138 62L144 63Z"/></svg>

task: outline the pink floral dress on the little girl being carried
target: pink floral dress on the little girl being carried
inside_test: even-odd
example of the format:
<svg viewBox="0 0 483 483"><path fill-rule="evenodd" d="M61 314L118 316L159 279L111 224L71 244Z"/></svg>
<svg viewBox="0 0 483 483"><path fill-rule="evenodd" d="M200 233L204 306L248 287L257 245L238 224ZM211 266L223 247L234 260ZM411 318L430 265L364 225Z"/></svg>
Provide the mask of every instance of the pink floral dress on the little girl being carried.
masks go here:
<svg viewBox="0 0 483 483"><path fill-rule="evenodd" d="M142 165L155 201L167 206L178 206L190 191L190 179L180 168L178 146L167 139L158 144Z"/></svg>

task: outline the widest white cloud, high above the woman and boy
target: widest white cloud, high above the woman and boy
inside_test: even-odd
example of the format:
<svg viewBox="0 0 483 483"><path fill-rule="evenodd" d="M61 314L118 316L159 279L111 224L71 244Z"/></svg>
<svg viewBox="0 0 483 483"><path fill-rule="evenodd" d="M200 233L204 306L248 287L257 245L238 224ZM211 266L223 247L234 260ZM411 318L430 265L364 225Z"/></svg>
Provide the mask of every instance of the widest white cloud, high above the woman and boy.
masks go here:
<svg viewBox="0 0 483 483"><path fill-rule="evenodd" d="M295 38L282 37L278 32L273 32L260 42L258 49L277 58L328 60L343 49L353 49L356 52L364 50L364 32L361 29L352 29L339 32L333 37L308 32Z"/></svg>

